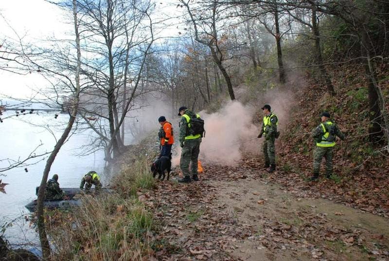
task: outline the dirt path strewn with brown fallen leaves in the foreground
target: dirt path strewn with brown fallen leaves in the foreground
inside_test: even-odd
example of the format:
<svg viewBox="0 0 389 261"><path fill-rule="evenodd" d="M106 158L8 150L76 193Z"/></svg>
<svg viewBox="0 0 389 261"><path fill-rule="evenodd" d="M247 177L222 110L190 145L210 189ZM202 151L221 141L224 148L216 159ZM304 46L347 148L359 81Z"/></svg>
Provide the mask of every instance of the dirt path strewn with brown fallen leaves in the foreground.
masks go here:
<svg viewBox="0 0 389 261"><path fill-rule="evenodd" d="M142 194L160 230L155 260L389 260L389 220L289 191L247 162Z"/></svg>

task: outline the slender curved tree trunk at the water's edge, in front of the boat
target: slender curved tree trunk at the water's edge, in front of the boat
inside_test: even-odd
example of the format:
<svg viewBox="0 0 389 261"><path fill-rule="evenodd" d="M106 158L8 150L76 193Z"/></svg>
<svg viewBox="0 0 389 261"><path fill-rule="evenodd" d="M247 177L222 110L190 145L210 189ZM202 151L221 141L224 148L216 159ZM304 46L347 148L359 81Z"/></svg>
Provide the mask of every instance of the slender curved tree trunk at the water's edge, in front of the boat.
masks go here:
<svg viewBox="0 0 389 261"><path fill-rule="evenodd" d="M73 123L77 116L77 110L78 110L78 101L79 101L79 95L80 95L80 67L81 67L81 51L80 51L80 37L78 34L78 22L77 22L77 6L76 6L76 0L73 0L73 17L74 17L74 30L76 35L76 46L77 46L77 67L76 67L76 73L75 73L75 81L76 81L76 90L74 92L74 99L73 99L73 108L71 110L70 119L68 122L68 125L66 126L64 132L61 135L61 138L58 139L57 143L54 146L53 152L50 154L49 158L47 159L45 169L43 171L42 179L40 181L40 186L38 190L38 199L37 199L37 226L38 226L38 234L39 234L39 241L42 247L42 255L43 260L47 261L50 260L51 256L51 250L50 250L50 244L49 240L47 238L46 234L46 227L45 227L45 218L43 213L43 201L45 197L45 190L46 190L46 182L47 178L50 173L50 169L53 165L54 159L57 156L59 150L61 149L62 145L65 143L66 139L69 136L69 133L71 131L71 128L73 126Z"/></svg>

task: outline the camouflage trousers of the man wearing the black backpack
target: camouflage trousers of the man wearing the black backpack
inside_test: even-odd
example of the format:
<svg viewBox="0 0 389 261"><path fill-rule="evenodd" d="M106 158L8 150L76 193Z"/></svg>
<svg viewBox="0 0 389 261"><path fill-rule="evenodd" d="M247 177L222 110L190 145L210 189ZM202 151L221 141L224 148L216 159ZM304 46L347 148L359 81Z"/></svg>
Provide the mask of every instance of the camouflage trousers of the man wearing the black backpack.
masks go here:
<svg viewBox="0 0 389 261"><path fill-rule="evenodd" d="M197 160L200 153L201 139L185 140L184 147L181 150L181 158L179 166L184 176L197 174ZM189 171L189 164L191 164L191 172Z"/></svg>

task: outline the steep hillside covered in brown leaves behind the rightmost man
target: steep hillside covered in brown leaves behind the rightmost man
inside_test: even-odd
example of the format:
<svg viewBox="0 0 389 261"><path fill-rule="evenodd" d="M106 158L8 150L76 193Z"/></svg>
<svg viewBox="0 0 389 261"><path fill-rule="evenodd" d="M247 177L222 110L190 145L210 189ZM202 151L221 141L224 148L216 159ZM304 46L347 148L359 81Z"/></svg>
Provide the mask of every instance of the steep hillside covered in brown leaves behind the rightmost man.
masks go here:
<svg viewBox="0 0 389 261"><path fill-rule="evenodd" d="M388 98L386 71L385 67L380 68L378 78L384 96ZM330 97L324 88L315 83L296 93L299 102L291 108L290 122L284 128L277 146L279 171L272 178L291 190L334 198L388 217L387 141L375 145L369 142L368 93L363 68L359 65L339 66L333 68L331 73L337 92L335 97ZM319 114L324 110L330 112L346 134L346 139L337 141L333 178L308 182L312 175L315 147L311 131L320 122ZM321 170L323 173L324 170Z"/></svg>

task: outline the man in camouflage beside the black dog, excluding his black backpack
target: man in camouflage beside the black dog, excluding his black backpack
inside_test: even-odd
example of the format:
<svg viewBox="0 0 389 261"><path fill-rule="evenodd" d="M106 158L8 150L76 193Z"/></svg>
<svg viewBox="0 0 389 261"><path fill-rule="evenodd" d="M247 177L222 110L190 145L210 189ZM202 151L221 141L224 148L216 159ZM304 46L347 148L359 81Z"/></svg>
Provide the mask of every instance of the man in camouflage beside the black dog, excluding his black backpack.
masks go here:
<svg viewBox="0 0 389 261"><path fill-rule="evenodd" d="M184 116L186 115L186 116ZM198 114L188 110L187 107L182 106L178 109L178 116L181 116L179 122L179 142L181 150L180 168L183 178L178 182L188 183L191 182L190 174L192 173L192 179L198 181L197 176L197 160L200 153L201 135L191 135L189 132L189 118L199 118ZM188 118L189 116L189 118ZM189 165L191 165L191 171L189 171Z"/></svg>

